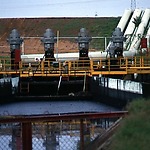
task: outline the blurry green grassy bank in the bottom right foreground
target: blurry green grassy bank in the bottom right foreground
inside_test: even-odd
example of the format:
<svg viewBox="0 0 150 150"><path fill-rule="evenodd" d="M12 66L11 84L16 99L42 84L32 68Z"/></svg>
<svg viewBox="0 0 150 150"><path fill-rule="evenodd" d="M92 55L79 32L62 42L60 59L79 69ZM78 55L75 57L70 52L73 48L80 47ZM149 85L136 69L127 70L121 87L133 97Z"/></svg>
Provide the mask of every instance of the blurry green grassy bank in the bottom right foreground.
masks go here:
<svg viewBox="0 0 150 150"><path fill-rule="evenodd" d="M133 101L128 111L129 115L122 121L109 150L149 150L150 101Z"/></svg>

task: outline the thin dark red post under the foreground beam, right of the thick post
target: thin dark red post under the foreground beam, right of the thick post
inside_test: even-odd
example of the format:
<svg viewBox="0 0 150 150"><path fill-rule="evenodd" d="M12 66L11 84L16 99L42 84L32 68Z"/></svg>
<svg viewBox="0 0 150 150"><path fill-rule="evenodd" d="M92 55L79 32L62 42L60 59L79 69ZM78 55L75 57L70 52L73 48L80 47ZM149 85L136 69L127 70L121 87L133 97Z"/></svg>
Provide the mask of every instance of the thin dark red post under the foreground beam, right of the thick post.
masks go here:
<svg viewBox="0 0 150 150"><path fill-rule="evenodd" d="M84 150L84 127L83 127L83 119L80 120L80 150Z"/></svg>

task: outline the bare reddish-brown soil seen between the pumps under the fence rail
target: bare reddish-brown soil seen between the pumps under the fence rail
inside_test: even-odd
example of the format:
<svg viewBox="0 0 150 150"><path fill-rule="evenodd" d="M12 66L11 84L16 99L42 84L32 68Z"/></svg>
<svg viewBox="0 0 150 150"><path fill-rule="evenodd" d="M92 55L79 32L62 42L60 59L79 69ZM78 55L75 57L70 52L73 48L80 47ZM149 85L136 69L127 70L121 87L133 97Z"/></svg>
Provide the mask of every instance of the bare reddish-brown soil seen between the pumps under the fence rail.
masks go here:
<svg viewBox="0 0 150 150"><path fill-rule="evenodd" d="M44 45L40 38L25 39L21 46L22 53L24 54L43 54ZM67 40L59 40L55 43L54 53L78 52L78 44ZM0 43L0 56L8 56L10 54L9 43L2 41Z"/></svg>

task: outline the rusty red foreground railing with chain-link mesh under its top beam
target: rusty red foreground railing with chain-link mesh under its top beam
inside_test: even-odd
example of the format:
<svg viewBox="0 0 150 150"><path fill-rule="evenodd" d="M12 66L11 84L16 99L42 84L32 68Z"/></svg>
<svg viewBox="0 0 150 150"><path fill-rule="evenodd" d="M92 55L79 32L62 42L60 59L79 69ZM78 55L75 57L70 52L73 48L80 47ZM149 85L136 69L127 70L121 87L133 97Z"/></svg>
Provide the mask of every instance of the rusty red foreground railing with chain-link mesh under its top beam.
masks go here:
<svg viewBox="0 0 150 150"><path fill-rule="evenodd" d="M0 149L87 150L126 111L1 116Z"/></svg>

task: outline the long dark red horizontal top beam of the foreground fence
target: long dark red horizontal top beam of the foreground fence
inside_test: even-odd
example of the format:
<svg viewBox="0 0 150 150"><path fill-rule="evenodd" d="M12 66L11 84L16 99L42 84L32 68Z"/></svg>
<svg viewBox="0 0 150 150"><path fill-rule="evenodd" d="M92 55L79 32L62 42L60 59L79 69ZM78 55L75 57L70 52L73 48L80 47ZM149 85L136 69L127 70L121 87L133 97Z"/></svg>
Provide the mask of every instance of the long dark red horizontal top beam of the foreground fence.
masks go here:
<svg viewBox="0 0 150 150"><path fill-rule="evenodd" d="M70 119L97 119L97 118L117 118L128 114L128 111L99 112L99 113L76 113L76 114L56 114L56 115L24 115L24 116L3 116L0 123L10 122L42 122L60 121Z"/></svg>

